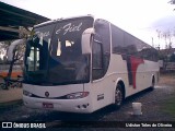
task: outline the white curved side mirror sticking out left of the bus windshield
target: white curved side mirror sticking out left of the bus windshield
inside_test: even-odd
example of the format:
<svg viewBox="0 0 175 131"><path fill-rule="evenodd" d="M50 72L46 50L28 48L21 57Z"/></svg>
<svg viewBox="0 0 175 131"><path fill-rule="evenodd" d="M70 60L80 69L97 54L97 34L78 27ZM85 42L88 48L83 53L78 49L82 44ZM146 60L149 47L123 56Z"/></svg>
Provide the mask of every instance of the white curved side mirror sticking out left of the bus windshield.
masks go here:
<svg viewBox="0 0 175 131"><path fill-rule="evenodd" d="M14 55L14 49L16 48L18 45L24 44L24 39L18 39L14 40L8 49L8 61L13 61L13 55Z"/></svg>

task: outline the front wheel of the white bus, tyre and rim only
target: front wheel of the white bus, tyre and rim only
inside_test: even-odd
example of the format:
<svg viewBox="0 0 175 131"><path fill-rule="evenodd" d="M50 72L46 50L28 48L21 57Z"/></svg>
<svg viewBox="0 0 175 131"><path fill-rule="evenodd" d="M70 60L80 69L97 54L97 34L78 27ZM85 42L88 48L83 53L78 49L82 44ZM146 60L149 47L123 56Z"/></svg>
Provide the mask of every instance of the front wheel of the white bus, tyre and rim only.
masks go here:
<svg viewBox="0 0 175 131"><path fill-rule="evenodd" d="M124 99L124 94L122 94L121 85L118 84L115 91L115 106L117 108L121 106L122 99Z"/></svg>

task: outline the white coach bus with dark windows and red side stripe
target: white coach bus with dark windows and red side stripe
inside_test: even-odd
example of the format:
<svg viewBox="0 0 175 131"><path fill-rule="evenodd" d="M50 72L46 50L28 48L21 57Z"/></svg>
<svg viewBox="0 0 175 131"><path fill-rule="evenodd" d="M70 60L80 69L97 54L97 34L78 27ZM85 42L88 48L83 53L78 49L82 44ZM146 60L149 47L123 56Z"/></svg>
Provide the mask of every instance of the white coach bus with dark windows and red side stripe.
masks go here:
<svg viewBox="0 0 175 131"><path fill-rule="evenodd" d="M26 40L23 102L26 107L91 114L154 87L158 51L91 15L34 26Z"/></svg>

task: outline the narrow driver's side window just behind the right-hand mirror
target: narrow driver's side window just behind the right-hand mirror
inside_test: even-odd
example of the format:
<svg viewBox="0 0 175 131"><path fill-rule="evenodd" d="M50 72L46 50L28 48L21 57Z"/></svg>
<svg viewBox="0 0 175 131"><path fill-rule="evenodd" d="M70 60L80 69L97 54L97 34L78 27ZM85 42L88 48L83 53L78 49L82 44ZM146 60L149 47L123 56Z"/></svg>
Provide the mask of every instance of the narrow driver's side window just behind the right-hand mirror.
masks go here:
<svg viewBox="0 0 175 131"><path fill-rule="evenodd" d="M103 48L102 41L94 39L92 44L92 79L101 79L104 74L103 71Z"/></svg>

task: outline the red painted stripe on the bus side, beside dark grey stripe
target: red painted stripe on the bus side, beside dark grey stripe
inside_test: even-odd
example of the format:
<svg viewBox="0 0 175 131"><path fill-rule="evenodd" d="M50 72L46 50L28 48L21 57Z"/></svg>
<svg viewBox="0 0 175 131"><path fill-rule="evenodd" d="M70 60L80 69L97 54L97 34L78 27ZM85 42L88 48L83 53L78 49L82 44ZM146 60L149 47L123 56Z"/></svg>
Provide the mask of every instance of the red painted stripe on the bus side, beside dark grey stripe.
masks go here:
<svg viewBox="0 0 175 131"><path fill-rule="evenodd" d="M136 73L139 64L144 63L143 59L130 57L133 88L136 88Z"/></svg>

